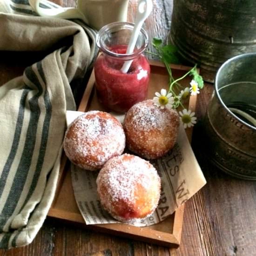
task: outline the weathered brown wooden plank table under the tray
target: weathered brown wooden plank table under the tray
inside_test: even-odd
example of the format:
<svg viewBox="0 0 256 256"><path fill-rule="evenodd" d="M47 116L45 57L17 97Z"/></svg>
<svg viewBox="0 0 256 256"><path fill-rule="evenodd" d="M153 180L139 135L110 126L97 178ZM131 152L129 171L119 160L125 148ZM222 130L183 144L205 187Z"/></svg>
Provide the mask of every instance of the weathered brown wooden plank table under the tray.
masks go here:
<svg viewBox="0 0 256 256"><path fill-rule="evenodd" d="M61 6L74 6L74 0L54 0ZM129 19L135 15L137 0L130 0ZM166 39L171 21L172 0L154 0L154 10L146 21L149 38ZM19 67L3 74L19 72ZM9 66L8 66L9 65ZM206 84L197 98L192 147L206 177L207 184L185 204L182 242L178 249L168 249L108 234L96 233L47 218L30 245L0 250L0 256L59 256L59 255L182 255L233 256L256 255L256 182L243 181L224 174L214 167L202 149L202 119L210 96L211 84Z"/></svg>

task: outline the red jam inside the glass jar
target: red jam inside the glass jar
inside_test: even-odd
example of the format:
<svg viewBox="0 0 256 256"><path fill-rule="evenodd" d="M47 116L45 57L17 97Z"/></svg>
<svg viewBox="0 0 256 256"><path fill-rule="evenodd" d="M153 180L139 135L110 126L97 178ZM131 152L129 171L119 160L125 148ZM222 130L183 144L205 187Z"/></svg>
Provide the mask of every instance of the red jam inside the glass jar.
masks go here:
<svg viewBox="0 0 256 256"><path fill-rule="evenodd" d="M116 45L109 50L125 54L126 49L126 45ZM127 74L121 72L123 63L121 58L101 54L94 66L98 99L105 107L117 112L128 111L135 103L145 100L148 94L148 60L138 54Z"/></svg>

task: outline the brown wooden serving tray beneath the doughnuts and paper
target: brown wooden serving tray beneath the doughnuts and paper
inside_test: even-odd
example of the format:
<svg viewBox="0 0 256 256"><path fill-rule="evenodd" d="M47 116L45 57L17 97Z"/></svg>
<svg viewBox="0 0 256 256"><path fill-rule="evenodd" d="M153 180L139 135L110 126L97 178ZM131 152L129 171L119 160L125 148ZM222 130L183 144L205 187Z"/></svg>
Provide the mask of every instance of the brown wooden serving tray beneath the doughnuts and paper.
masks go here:
<svg viewBox="0 0 256 256"><path fill-rule="evenodd" d="M166 68L159 61L150 61L150 67L151 76L148 98L151 99L154 97L156 91L160 92L162 88L168 88L168 74ZM173 76L176 78L181 77L191 69L191 67L184 67L180 65L171 65L171 68ZM190 81L191 77L186 77L180 81L180 84L184 86L184 88L189 87ZM83 94L78 111L106 111L97 101L97 96L94 92L94 82L95 77L93 71ZM196 96L193 96L189 99L185 107L195 111L195 103ZM192 128L187 129L186 132L189 141L191 141ZM63 153L58 186L54 197L54 202L48 212L48 216L73 222L85 228L94 229L96 231L101 231L116 236L124 236L162 246L178 247L181 242L183 212L184 204L164 221L148 227L135 227L123 223L86 225L75 202L71 183L70 162L67 161L67 157Z"/></svg>

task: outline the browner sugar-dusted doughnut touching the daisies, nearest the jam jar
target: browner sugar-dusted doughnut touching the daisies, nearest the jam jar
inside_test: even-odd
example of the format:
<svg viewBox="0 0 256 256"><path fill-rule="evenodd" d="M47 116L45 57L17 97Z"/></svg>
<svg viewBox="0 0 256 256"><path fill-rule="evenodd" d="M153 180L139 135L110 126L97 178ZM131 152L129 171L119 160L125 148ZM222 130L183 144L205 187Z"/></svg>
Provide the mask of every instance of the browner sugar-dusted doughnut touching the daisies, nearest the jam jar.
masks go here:
<svg viewBox="0 0 256 256"><path fill-rule="evenodd" d="M141 101L125 115L126 145L143 158L157 159L174 147L179 123L175 110L161 109L153 100Z"/></svg>

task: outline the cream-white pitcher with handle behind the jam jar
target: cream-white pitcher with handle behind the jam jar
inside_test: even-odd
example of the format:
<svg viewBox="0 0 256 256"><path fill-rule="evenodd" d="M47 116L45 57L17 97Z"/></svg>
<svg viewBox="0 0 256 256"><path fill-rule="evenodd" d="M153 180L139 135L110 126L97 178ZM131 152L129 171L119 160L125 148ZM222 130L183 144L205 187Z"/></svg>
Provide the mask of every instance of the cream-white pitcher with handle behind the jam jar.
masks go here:
<svg viewBox="0 0 256 256"><path fill-rule="evenodd" d="M40 16L61 19L81 19L99 30L115 21L127 21L128 0L77 0L77 8L41 8L40 0L29 0Z"/></svg>

